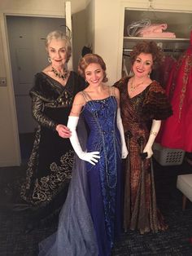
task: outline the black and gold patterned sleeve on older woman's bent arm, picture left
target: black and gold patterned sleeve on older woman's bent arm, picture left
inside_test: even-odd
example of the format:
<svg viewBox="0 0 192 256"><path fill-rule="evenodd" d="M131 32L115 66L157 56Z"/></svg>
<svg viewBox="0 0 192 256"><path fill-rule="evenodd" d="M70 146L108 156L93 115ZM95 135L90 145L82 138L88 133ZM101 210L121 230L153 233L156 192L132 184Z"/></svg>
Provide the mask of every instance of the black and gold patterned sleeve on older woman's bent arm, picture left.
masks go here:
<svg viewBox="0 0 192 256"><path fill-rule="evenodd" d="M38 122L39 125L55 130L58 125L55 121L47 117L44 113L44 102L37 95L32 95L32 113L34 119Z"/></svg>

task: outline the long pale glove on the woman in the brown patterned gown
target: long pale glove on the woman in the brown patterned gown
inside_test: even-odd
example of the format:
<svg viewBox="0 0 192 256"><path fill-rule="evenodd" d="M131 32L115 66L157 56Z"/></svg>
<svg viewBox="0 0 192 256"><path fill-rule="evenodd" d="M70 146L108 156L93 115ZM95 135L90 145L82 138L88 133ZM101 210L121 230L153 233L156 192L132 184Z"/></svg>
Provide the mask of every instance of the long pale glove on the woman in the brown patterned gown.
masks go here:
<svg viewBox="0 0 192 256"><path fill-rule="evenodd" d="M152 146L155 141L156 135L158 135L159 129L160 129L161 121L160 120L153 120L152 126L151 126L151 132L149 139L146 143L146 147L143 149L143 152L147 152L146 158L151 158L153 155Z"/></svg>

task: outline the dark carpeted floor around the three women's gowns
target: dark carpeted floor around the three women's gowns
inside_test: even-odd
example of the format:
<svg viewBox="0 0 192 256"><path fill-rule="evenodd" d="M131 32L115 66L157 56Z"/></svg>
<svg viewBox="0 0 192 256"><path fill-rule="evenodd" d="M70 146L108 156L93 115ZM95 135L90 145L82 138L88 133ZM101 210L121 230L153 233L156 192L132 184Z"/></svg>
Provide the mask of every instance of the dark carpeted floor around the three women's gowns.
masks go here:
<svg viewBox="0 0 192 256"><path fill-rule="evenodd" d="M55 232L57 228L58 219L55 218L51 222L41 223L33 232L25 234L28 212L11 210L11 203L15 200L14 189L18 188L20 178L24 176L26 170L26 157L28 153L24 156L24 163L21 166L0 168L0 255L2 256L37 256L38 242ZM192 203L188 201L185 211L182 211L182 195L176 188L177 175L192 173L192 166L186 160L180 166L160 166L154 160L154 169L157 204L168 223L168 230L145 235L140 235L138 232L123 233L120 241L116 243L114 256L192 255L190 240Z"/></svg>

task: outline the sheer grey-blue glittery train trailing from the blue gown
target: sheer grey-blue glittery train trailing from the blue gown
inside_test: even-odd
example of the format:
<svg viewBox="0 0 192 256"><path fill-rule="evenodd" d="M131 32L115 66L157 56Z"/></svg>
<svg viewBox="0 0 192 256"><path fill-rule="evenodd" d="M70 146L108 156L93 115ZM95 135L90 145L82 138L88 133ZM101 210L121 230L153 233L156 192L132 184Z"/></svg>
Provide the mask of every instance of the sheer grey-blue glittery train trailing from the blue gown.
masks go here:
<svg viewBox="0 0 192 256"><path fill-rule="evenodd" d="M86 141L85 126L79 121L81 147ZM80 135L81 133L81 135ZM78 168L76 168L78 166ZM87 204L88 183L85 161L76 155L68 196L59 214L58 230L39 244L39 256L97 256L98 245Z"/></svg>

